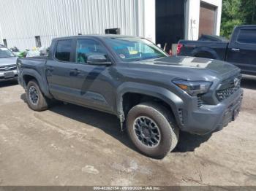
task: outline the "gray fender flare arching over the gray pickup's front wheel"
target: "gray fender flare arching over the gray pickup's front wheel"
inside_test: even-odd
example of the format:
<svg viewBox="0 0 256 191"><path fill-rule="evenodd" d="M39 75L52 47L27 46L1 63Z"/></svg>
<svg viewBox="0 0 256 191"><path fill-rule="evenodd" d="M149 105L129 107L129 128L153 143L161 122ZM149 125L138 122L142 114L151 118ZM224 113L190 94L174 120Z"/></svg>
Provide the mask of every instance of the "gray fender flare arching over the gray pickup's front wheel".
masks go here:
<svg viewBox="0 0 256 191"><path fill-rule="evenodd" d="M125 93L140 93L143 95L150 95L152 97L159 98L160 100L165 101L165 103L167 103L173 110L176 122L181 125L180 118L178 116L178 108L182 108L184 102L176 94L170 92L170 90L155 85L124 82L117 88L116 91L116 112L121 122L124 122L125 120L123 111L123 95Z"/></svg>

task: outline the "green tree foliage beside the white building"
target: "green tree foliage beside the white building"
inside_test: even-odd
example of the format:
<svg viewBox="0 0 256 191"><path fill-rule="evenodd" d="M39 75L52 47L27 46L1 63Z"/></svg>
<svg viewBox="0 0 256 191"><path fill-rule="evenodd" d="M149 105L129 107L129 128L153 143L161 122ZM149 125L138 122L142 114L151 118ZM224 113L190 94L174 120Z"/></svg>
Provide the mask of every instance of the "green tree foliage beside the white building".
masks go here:
<svg viewBox="0 0 256 191"><path fill-rule="evenodd" d="M238 25L256 24L256 0L223 0L221 35L230 38Z"/></svg>

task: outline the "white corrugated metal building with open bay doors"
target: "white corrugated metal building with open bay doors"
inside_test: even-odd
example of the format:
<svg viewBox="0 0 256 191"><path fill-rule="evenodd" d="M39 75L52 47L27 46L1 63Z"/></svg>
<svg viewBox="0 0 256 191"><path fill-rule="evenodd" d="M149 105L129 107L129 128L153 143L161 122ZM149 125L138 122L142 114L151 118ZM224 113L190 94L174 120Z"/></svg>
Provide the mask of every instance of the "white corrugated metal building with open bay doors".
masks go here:
<svg viewBox="0 0 256 191"><path fill-rule="evenodd" d="M143 36L162 46L200 34L219 35L222 0L1 0L0 43L20 50L58 36Z"/></svg>

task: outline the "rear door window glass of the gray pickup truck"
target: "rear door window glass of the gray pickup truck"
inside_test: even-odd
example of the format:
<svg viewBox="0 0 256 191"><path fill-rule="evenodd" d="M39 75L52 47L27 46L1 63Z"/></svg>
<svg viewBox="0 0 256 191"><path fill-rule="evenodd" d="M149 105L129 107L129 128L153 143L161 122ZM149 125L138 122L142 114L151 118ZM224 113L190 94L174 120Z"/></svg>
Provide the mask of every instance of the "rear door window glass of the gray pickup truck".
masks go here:
<svg viewBox="0 0 256 191"><path fill-rule="evenodd" d="M72 50L72 40L60 40L57 42L55 58L59 61L69 62Z"/></svg>

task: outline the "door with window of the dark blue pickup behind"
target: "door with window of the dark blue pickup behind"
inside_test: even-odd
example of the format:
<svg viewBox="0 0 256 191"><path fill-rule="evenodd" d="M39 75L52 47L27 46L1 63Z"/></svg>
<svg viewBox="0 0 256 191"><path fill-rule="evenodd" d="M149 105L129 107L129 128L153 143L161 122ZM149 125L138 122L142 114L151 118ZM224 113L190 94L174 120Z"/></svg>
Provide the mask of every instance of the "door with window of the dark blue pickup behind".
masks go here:
<svg viewBox="0 0 256 191"><path fill-rule="evenodd" d="M236 28L227 50L227 61L243 74L256 75L256 27Z"/></svg>

